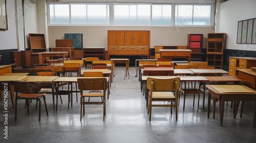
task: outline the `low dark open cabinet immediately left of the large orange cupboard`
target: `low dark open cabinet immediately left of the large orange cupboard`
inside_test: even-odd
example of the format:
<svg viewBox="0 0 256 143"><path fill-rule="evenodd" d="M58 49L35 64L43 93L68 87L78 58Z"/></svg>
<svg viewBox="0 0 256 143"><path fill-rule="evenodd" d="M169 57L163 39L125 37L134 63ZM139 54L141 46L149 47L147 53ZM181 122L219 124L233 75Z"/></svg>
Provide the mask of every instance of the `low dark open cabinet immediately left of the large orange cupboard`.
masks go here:
<svg viewBox="0 0 256 143"><path fill-rule="evenodd" d="M105 47L84 47L83 57L98 57L101 60L105 60Z"/></svg>

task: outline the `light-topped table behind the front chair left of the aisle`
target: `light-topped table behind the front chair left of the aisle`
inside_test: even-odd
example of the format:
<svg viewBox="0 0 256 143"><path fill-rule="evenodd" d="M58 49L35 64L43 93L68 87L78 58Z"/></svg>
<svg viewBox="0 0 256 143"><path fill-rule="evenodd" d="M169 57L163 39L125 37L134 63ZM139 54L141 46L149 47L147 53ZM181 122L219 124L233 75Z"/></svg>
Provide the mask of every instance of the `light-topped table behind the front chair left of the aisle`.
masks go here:
<svg viewBox="0 0 256 143"><path fill-rule="evenodd" d="M88 69L87 69L88 70ZM85 79L85 78L102 78L102 77L58 77L55 80L53 80L54 83L57 83L57 88L56 88L56 111L58 109L58 94L59 94L59 83L61 82L68 82L68 83L77 83L77 79ZM106 80L109 82L109 78L106 78ZM71 106L73 106L73 96L72 96L72 84L71 84ZM109 92L110 89L108 87L108 99L109 99ZM68 95L69 95L69 85L68 85ZM68 108L69 108L69 103L70 103L70 97L68 97Z"/></svg>

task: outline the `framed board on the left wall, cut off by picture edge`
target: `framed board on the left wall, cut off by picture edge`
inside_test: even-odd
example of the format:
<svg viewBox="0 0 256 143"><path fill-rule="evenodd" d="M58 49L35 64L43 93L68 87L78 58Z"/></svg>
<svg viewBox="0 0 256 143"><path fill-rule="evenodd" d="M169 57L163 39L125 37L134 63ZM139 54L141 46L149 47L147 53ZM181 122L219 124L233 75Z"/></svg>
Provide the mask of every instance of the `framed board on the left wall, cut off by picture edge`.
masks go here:
<svg viewBox="0 0 256 143"><path fill-rule="evenodd" d="M0 0L0 30L8 30L6 0Z"/></svg>

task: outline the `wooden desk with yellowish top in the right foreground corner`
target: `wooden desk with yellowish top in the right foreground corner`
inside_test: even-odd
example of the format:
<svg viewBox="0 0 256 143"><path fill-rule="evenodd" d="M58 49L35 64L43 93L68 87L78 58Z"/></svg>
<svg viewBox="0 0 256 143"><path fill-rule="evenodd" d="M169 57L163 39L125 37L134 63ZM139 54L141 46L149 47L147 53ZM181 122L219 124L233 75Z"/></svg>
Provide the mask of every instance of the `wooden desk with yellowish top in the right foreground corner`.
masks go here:
<svg viewBox="0 0 256 143"><path fill-rule="evenodd" d="M240 101L254 101L256 104L256 91L244 85L206 85L208 88L207 117L210 115L211 96L220 100L220 126L223 126L225 101L236 101L236 112ZM224 89L226 92L219 89ZM236 115L234 114L234 117ZM256 127L256 105L254 106L253 127Z"/></svg>

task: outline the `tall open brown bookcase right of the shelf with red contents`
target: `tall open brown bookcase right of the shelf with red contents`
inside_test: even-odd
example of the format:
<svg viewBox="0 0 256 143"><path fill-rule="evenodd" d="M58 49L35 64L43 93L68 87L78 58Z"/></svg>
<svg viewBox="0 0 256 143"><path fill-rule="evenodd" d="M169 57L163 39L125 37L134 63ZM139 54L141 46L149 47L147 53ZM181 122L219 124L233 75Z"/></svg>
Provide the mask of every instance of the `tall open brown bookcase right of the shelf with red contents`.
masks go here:
<svg viewBox="0 0 256 143"><path fill-rule="evenodd" d="M208 33L206 50L208 66L222 68L225 47L226 33Z"/></svg>

